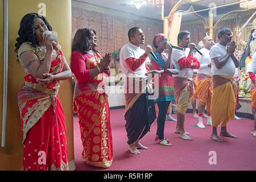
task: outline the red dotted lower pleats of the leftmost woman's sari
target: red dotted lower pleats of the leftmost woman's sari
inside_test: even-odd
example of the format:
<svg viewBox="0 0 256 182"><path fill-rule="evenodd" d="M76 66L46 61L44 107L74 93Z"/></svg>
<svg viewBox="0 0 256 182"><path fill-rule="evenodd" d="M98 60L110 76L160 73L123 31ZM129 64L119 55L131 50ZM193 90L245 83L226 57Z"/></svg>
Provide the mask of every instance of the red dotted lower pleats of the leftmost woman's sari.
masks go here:
<svg viewBox="0 0 256 182"><path fill-rule="evenodd" d="M55 114L53 106L49 106L38 122L27 132L23 144L23 170L68 170L65 114L59 96L56 96Z"/></svg>

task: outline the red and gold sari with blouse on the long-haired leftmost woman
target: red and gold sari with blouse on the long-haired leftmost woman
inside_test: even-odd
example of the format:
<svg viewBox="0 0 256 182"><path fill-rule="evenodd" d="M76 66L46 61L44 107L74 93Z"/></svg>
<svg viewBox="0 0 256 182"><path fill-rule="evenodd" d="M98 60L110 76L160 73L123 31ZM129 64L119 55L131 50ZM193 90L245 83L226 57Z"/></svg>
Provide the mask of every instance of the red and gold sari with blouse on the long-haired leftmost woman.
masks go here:
<svg viewBox="0 0 256 182"><path fill-rule="evenodd" d="M59 44L52 44L53 53L49 73L63 70L64 56ZM23 43L18 56L33 52L42 62L46 50ZM59 81L41 85L25 68L24 84L18 95L23 134L23 170L68 170L65 114L60 104Z"/></svg>

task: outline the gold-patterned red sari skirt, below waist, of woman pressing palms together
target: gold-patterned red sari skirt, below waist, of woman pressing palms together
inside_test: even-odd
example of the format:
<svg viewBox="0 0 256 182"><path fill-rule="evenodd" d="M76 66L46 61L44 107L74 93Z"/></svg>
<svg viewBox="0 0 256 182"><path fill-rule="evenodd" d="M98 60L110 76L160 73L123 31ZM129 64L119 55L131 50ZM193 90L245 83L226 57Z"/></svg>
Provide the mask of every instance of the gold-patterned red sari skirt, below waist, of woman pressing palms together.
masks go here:
<svg viewBox="0 0 256 182"><path fill-rule="evenodd" d="M84 150L89 165L110 167L113 162L112 130L106 93L86 92L75 100Z"/></svg>

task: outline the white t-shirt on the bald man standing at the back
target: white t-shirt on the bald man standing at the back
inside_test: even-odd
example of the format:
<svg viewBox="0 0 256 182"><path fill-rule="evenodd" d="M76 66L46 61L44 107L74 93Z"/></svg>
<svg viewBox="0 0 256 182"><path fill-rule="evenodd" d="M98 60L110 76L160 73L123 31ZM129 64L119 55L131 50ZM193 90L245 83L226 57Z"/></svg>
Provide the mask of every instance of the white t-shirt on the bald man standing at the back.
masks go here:
<svg viewBox="0 0 256 182"><path fill-rule="evenodd" d="M208 67L208 64L210 63L209 51L210 51L209 49L201 48L200 52L203 53L203 56L201 56L200 53L196 52L195 56L200 62L200 68L198 69L197 73L211 75L210 68Z"/></svg>

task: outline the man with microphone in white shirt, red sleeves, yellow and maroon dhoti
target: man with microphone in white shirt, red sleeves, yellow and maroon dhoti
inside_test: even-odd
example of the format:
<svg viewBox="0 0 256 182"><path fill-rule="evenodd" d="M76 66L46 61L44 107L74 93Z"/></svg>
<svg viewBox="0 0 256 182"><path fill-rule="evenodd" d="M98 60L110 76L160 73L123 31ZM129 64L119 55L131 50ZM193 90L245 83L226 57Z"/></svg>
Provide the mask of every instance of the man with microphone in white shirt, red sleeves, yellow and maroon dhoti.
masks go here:
<svg viewBox="0 0 256 182"><path fill-rule="evenodd" d="M179 49L172 50L172 58L178 68L178 75L173 75L175 100L177 105L177 125L175 133L180 134L180 138L184 140L192 140L188 133L184 130L185 112L194 93L195 82L193 81L193 69L200 67L200 62L193 57L195 44L190 43L190 33L181 31L177 36Z"/></svg>

